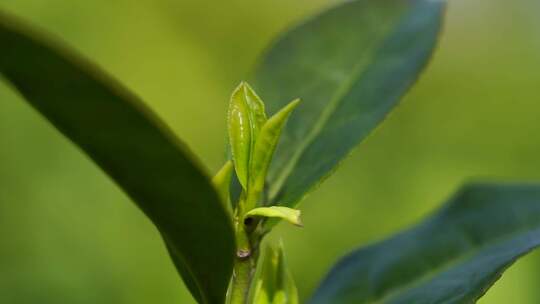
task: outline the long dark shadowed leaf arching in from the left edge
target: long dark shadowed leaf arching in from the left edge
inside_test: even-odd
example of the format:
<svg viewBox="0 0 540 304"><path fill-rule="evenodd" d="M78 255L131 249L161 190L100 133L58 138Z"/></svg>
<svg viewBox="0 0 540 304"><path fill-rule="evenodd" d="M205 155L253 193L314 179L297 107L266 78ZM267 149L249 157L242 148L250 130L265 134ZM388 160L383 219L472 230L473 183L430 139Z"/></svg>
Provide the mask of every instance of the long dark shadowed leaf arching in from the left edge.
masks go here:
<svg viewBox="0 0 540 304"><path fill-rule="evenodd" d="M0 14L0 75L152 220L194 296L223 303L232 225L193 155L119 83L33 32Z"/></svg>

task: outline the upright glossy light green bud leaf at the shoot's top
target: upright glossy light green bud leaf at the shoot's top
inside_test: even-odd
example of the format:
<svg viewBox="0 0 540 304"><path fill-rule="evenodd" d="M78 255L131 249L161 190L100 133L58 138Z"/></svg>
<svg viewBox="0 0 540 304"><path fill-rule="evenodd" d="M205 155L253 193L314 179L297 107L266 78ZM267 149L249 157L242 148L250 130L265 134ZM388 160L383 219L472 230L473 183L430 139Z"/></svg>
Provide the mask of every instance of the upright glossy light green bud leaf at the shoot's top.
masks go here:
<svg viewBox="0 0 540 304"><path fill-rule="evenodd" d="M249 163L257 135L266 122L264 104L245 82L234 90L228 113L229 142L236 175L248 187Z"/></svg>

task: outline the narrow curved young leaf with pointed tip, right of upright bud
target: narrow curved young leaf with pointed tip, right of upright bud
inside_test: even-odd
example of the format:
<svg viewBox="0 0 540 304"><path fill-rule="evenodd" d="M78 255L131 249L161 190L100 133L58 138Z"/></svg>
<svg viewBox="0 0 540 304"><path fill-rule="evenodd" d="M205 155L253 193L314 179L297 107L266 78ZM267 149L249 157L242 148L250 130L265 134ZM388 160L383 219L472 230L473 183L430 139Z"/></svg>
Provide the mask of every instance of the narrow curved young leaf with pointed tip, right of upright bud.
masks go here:
<svg viewBox="0 0 540 304"><path fill-rule="evenodd" d="M249 179L249 193L254 196L253 199L255 200L260 199L260 194L264 189L268 167L279 142L281 131L289 115L298 106L299 102L300 100L296 99L286 105L274 116L270 117L260 130L252 153Z"/></svg>

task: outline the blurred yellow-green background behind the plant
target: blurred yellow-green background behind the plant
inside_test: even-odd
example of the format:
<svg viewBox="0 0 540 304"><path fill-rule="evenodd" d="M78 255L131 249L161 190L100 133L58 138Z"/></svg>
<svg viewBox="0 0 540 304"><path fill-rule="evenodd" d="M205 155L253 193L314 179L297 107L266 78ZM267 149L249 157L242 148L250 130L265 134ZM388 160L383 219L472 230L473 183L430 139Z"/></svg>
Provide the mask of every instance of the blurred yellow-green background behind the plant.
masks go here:
<svg viewBox="0 0 540 304"><path fill-rule="evenodd" d="M272 37L331 2L2 0L0 9L124 82L213 172L232 89ZM414 224L464 182L540 181L539 8L450 1L418 85L301 205L305 228L274 232L304 299L339 256ZM532 254L481 303L540 303L539 284ZM0 303L192 302L142 213L0 84Z"/></svg>

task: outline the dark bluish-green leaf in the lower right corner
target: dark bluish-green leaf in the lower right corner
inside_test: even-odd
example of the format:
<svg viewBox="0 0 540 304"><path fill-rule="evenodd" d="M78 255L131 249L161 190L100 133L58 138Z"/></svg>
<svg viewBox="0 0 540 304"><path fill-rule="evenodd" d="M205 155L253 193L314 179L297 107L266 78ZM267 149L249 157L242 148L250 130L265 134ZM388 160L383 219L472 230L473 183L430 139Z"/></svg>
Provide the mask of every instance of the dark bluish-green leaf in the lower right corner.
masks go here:
<svg viewBox="0 0 540 304"><path fill-rule="evenodd" d="M310 303L474 303L539 245L540 185L471 185L416 227L341 259Z"/></svg>

